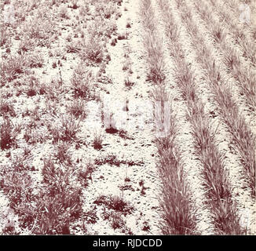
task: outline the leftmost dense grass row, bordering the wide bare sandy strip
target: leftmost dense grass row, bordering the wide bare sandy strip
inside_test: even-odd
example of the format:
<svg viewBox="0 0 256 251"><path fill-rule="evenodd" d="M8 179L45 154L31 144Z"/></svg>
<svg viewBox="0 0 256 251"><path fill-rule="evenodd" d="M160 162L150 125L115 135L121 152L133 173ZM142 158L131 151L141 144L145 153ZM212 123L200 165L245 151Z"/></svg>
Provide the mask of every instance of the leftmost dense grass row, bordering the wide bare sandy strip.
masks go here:
<svg viewBox="0 0 256 251"><path fill-rule="evenodd" d="M177 126L171 112L170 95L166 92L163 57L163 41L155 26L154 12L150 0L141 1L141 18L144 25L144 45L148 53L149 79L155 85L152 98L159 102L159 118L166 124L163 134L156 136L159 152L159 174L162 180L163 222L160 227L164 235L191 235L196 232L195 206L191 191L185 181L181 149L176 144ZM157 106L155 105L155 109ZM155 118L157 119L157 118ZM158 128L159 130L159 128ZM193 212L193 213L192 213Z"/></svg>

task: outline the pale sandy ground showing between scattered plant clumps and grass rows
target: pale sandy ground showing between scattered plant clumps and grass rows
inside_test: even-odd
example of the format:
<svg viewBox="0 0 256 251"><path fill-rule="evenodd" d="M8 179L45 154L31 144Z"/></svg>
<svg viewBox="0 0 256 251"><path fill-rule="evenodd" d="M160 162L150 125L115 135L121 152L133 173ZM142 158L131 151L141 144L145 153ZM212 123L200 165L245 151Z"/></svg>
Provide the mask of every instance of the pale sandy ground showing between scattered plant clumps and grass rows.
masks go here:
<svg viewBox="0 0 256 251"><path fill-rule="evenodd" d="M47 2L47 1L46 1ZM60 2L60 1L57 1ZM89 7L89 12L81 15L81 6ZM114 1L113 1L114 2ZM255 234L255 201L251 198L251 190L245 184L243 176L243 166L239 155L231 149L231 140L229 130L221 117L219 107L214 102L213 94L210 92L209 83L202 82L203 70L196 63L197 51L193 48L191 39L186 31L186 27L181 22L181 16L178 12L175 1L170 1L170 9L174 15L177 27L181 29L180 41L181 47L185 51L185 60L192 64L192 70L196 76L196 91L199 99L204 105L204 113L209 118L213 128L218 127L218 133L215 140L218 151L225 155L225 168L229 171L229 182L232 187L232 198L237 202L237 208L242 218L249 218L249 233ZM189 9L196 13L195 6L191 1L185 1ZM218 1L221 2L221 1ZM18 49L21 44L30 41L27 38L27 30L36 26L33 16L42 15L46 17L47 22L53 22L53 28L50 30L49 38L46 39L49 44L40 46L39 40L35 38L35 43L24 56L42 55L44 63L42 67L27 67L18 78L0 86L0 101L8 100L13 105L16 116L11 118L13 125L22 125L20 134L16 138L16 146L9 150L0 151L0 170L3 177L3 170L6 168L13 172L19 164L18 160L28 167L26 172L31 176L31 187L35 192L42 187L43 177L42 168L44 158L50 155L55 156L57 145L53 144L52 135L49 133L50 127L61 129L61 118L71 119L68 114L68 106L74 100L71 90L71 77L75 68L81 64L82 60L79 53L68 53L67 45L73 45L82 40L82 36L89 38L92 30L97 30L95 26L101 25L95 21L96 10L95 3L92 1L79 0L79 8L69 8L69 3L65 2L56 5L45 5L42 1L39 7L33 7L34 1L27 1L21 4L15 3L16 16L22 16L24 9L27 9L24 23L15 28L7 28L8 42L0 48L1 62L5 62L11 56L18 55ZM206 2L209 5L210 2ZM122 5L115 5L115 12L110 20L106 19L107 26L112 27L116 24L116 31L112 32L111 38L102 35L102 44L106 43L104 48L104 58L110 56L107 63L83 66L86 70L93 72L93 81L91 82L90 100L86 101L86 118L73 118L79 122L79 132L77 142L71 142L68 151L71 155L74 169L86 169L86 165L93 166L91 179L88 185L82 187L82 218L72 224L71 234L75 235L161 235L159 223L162 211L159 206L161 198L161 180L157 169L158 155L155 145L155 122L154 106L152 103L153 84L148 81L148 63L147 53L144 45L144 27L140 13L141 1L124 0ZM113 5L113 6L114 6ZM20 6L20 8L19 8ZM49 9L51 6L51 9ZM2 9L4 4L1 3ZM61 8L67 9L69 18L60 18ZM113 7L111 7L113 8ZM182 162L186 173L186 181L192 191L193 202L196 202L196 227L200 234L214 234L213 218L210 207L207 205L207 198L203 187L203 177L201 175L203 166L196 156L192 136L192 126L188 122L187 107L181 97L181 90L174 81L174 61L170 56L170 48L165 34L165 24L163 13L156 0L152 0L152 9L156 30L159 38L163 39L163 53L165 59L166 89L172 98L172 109L177 119L177 140L176 144L182 152ZM118 13L120 15L118 15ZM1 16L3 18L3 16ZM218 22L218 13L213 13L214 20ZM210 48L212 47L212 56L217 64L221 66L221 75L225 76L225 81L229 87L232 87L232 98L239 104L240 113L245 118L247 125L255 134L255 119L244 96L240 95L240 87L234 81L232 74L228 75L223 67L223 55L218 48L214 48L213 41L207 31L207 27L200 20L199 16L193 16L200 35L204 42ZM31 20L31 21L30 21ZM5 20L2 24L5 23ZM130 27L126 24L130 23ZM26 26L27 24L27 26ZM48 23L47 23L48 24ZM92 27L90 27L92 24ZM38 27L46 28L46 23L39 24ZM226 25L226 28L229 27ZM27 30L26 30L27 29ZM99 28L100 29L100 28ZM23 31L24 30L24 31ZM106 30L105 30L106 31ZM250 27L246 32L250 31ZM107 32L107 31L106 31ZM44 33L44 31L43 31ZM111 33L111 32L110 32ZM114 38L118 35L126 35L125 39L117 39L115 45L112 45ZM19 36L19 38L17 38ZM228 33L229 46L235 37L232 31ZM10 49L10 52L8 51ZM236 47L236 53L243 55L242 49ZM60 60L61 66L53 67L53 64ZM128 64L128 69L123 66ZM241 56L241 65L254 71L254 67ZM104 72L101 73L101 67ZM31 81L31 76L38 78L35 88L39 86L49 86L51 91L48 96L39 95L27 96L26 90ZM126 85L129 80L130 86ZM58 84L60 81L61 85ZM19 93L20 90L20 93ZM38 121L36 113L38 112ZM104 118L102 120L102 113ZM110 114L111 118L110 118ZM210 114L216 116L212 117ZM109 116L109 119L108 119ZM0 123L4 121L4 116L0 115ZM115 124L119 132L125 132L124 136L119 133L107 133L106 123ZM31 138L35 142L26 142L24 135L28 128L31 128ZM29 130L28 130L29 132ZM93 140L96 135L101 135L102 149L93 148ZM41 138L41 142L40 139ZM77 147L79 145L79 147ZM24 151L31 149L31 152L25 156ZM114 156L114 157L113 157ZM106 159L114 158L117 165L106 162ZM53 157L55 158L55 157ZM103 163L99 162L102 161ZM35 169L31 169L34 166ZM75 176L71 176L75 179ZM82 186L82 185L81 185ZM120 213L118 210L109 209L106 206L97 205L97 199L102 196L109 198L122 198L130 206L131 213ZM20 219L17 213L10 208L10 195L4 192L1 186L0 190L0 234L5 235L5 228L9 225L14 226L13 234L31 235L33 229L29 227L20 227ZM33 203L27 205L33 207ZM16 206L18 207L18 206ZM119 221L119 227L113 227L113 222Z"/></svg>

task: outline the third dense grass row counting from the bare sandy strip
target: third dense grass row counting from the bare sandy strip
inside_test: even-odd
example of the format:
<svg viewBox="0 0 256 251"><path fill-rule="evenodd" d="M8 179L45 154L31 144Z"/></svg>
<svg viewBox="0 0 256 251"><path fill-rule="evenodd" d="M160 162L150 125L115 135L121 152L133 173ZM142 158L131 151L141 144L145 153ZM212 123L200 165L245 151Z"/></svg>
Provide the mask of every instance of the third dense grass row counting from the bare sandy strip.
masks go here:
<svg viewBox="0 0 256 251"><path fill-rule="evenodd" d="M251 188L251 195L255 196L255 136L245 122L243 115L240 114L239 107L232 99L232 92L229 86L225 85L221 77L220 68L211 56L211 48L208 48L203 41L191 10L188 6L181 5L181 18L184 21L187 31L192 38L195 46L198 63L205 72L204 80L207 81L214 100L218 104L223 121L229 129L232 146L237 154L244 170L244 176Z"/></svg>

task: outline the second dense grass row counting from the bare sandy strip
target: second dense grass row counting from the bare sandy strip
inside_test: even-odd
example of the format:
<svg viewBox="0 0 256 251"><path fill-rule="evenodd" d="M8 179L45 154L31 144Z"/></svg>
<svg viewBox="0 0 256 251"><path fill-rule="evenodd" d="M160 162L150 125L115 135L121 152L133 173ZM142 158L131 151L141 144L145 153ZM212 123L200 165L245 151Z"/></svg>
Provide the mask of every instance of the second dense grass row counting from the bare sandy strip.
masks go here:
<svg viewBox="0 0 256 251"><path fill-rule="evenodd" d="M170 55L175 63L176 82L188 107L188 120L192 124L195 139L196 155L203 165L203 183L206 188L210 211L214 216L214 227L218 234L243 233L232 202L228 173L225 170L223 155L215 144L216 131L211 128L210 120L204 114L204 104L197 96L196 75L191 65L185 61L185 52L181 48L179 27L174 22L168 2L159 2L166 27L166 38L169 42Z"/></svg>

